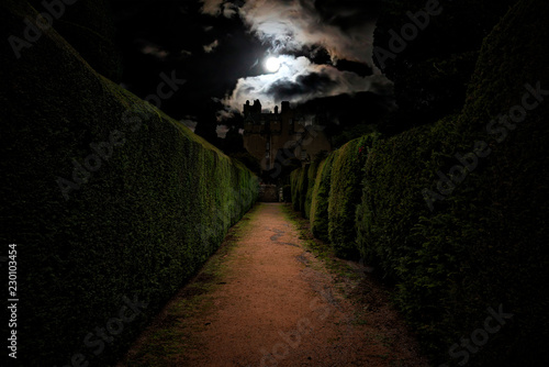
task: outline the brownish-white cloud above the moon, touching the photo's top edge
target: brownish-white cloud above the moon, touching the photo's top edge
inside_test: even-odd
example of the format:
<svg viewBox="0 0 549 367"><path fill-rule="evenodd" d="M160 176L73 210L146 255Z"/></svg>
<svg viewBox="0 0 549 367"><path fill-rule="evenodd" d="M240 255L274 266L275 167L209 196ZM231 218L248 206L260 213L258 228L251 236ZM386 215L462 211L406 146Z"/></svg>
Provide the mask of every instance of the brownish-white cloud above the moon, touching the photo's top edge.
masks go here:
<svg viewBox="0 0 549 367"><path fill-rule="evenodd" d="M372 65L374 0L247 0L239 9L273 53L322 46L333 60Z"/></svg>

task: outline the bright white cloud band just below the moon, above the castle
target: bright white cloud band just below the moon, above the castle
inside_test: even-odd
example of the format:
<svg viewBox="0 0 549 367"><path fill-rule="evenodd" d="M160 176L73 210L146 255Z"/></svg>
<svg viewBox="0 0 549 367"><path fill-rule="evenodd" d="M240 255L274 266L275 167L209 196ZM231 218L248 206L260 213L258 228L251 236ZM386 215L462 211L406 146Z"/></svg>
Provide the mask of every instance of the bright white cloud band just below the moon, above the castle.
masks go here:
<svg viewBox="0 0 549 367"><path fill-rule="evenodd" d="M333 66L313 64L304 56L282 55L278 58L281 67L277 73L240 78L223 103L240 111L246 100L259 99L264 108L272 110L281 101L303 103L315 98L360 91L386 93L391 88L391 82L379 75L362 77Z"/></svg>

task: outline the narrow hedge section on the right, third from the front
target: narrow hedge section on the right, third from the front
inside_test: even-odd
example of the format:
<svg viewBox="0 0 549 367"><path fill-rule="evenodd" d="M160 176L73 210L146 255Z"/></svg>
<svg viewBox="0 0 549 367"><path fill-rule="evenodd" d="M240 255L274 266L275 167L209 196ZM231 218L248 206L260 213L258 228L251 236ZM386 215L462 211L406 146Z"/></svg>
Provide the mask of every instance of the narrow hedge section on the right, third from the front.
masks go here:
<svg viewBox="0 0 549 367"><path fill-rule="evenodd" d="M321 162L311 199L311 231L315 237L326 242L328 242L328 197L334 157L335 154L330 154Z"/></svg>

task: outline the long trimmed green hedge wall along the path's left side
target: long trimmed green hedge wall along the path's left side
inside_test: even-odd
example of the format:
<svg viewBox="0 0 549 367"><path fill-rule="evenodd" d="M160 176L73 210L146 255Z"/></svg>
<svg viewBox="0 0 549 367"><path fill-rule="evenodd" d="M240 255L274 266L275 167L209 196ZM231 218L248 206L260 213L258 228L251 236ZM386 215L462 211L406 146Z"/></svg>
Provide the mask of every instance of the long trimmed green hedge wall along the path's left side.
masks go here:
<svg viewBox="0 0 549 367"><path fill-rule="evenodd" d="M0 10L4 40L37 14L24 1ZM4 42L0 56L1 240L18 244L18 360L107 366L250 208L257 178L97 74L54 29L21 54ZM134 318L132 302L143 302Z"/></svg>

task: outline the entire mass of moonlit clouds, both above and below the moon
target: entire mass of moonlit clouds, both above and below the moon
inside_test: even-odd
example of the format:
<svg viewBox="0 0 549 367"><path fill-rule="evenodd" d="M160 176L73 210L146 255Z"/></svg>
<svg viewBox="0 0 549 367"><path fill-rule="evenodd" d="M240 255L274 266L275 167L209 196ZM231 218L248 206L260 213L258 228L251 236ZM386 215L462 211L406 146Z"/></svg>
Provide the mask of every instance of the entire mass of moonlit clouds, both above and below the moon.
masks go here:
<svg viewBox="0 0 549 367"><path fill-rule="evenodd" d="M236 9L248 32L267 45L271 55L280 55L278 71L264 66L259 69L262 75L238 79L223 101L228 109L242 110L246 100L259 99L272 110L283 100L302 103L343 93L385 93L391 88L383 76L370 75L379 0L201 1L203 13L214 16ZM326 64L313 62L320 51L327 55L318 64ZM333 65L328 65L330 60Z"/></svg>

